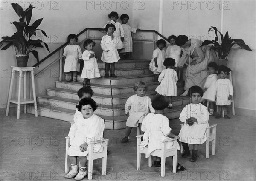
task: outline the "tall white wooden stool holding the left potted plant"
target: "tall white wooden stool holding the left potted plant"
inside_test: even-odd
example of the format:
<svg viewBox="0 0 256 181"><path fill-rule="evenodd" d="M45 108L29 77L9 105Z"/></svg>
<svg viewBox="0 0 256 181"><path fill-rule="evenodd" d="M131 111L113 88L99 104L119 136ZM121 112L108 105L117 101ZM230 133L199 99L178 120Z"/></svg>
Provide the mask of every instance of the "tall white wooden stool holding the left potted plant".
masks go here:
<svg viewBox="0 0 256 181"><path fill-rule="evenodd" d="M10 83L10 88L9 88L9 93L8 93L8 99L7 99L7 107L6 107L6 116L8 116L9 113L9 107L10 107L10 102L17 104L17 119L20 119L20 105L24 105L24 114L26 114L26 104L29 103L34 103L35 105L35 117L38 116L38 111L37 111L37 105L36 105L36 96L35 96L35 81L34 81L34 68L35 67L13 67L12 66L12 76L11 76L11 83ZM12 99L12 86L13 86L13 79L15 76L15 71L19 71L19 88L18 88L18 99ZM32 81L32 90L33 90L33 99L26 99L26 71L31 71L31 81ZM23 99L20 99L20 92L21 92L21 78L22 78L22 73L24 72L24 85L23 85Z"/></svg>

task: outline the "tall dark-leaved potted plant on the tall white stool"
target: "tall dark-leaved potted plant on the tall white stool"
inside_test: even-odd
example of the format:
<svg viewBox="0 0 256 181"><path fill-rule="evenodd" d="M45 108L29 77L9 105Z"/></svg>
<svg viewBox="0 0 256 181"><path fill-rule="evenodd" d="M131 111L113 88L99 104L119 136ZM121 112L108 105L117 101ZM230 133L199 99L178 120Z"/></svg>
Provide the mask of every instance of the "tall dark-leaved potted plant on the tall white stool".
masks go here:
<svg viewBox="0 0 256 181"><path fill-rule="evenodd" d="M30 4L29 7L24 11L19 4L12 3L12 8L20 17L19 22L14 21L11 23L15 25L17 32L15 32L11 37L2 37L3 40L0 42L0 47L2 47L5 42L7 43L7 45L5 45L2 50L6 50L13 45L16 52L18 67L26 67L30 52L37 59L37 62L39 62L38 52L36 50L32 50L33 48L44 47L41 44L44 43L45 48L49 51L47 43L43 42L40 39L31 39L32 35L36 36L37 30L40 30L42 34L47 37L46 33L43 30L38 29L38 26L41 24L43 18L38 19L32 25L29 25L32 16L32 9L35 7Z"/></svg>

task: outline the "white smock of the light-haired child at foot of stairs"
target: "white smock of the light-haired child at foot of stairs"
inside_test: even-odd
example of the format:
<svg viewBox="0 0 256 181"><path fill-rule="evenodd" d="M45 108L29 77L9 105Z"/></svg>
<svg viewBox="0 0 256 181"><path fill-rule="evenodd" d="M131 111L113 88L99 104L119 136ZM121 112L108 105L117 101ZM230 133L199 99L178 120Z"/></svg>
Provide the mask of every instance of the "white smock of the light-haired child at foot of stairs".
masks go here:
<svg viewBox="0 0 256 181"><path fill-rule="evenodd" d="M125 103L125 114L129 113L126 126L137 127L139 120L142 121L149 111L155 112L148 96L140 97L135 94L129 97Z"/></svg>

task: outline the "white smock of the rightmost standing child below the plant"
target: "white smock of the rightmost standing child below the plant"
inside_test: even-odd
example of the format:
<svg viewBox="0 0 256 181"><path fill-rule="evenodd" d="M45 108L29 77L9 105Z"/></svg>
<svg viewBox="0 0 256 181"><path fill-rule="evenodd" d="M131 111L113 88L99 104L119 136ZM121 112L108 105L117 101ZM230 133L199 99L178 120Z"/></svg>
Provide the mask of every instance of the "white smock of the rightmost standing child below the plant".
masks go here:
<svg viewBox="0 0 256 181"><path fill-rule="evenodd" d="M232 83L229 79L218 79L216 82L217 98L216 105L224 106L231 105L231 100L228 100L228 96L233 96L234 90Z"/></svg>

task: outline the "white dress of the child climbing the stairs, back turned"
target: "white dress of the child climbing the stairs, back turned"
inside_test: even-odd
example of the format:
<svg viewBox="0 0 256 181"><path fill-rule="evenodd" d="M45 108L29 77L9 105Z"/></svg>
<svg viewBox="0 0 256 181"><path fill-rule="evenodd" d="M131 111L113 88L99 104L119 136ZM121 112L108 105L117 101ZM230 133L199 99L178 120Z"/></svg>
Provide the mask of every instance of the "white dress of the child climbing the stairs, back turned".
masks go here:
<svg viewBox="0 0 256 181"><path fill-rule="evenodd" d="M171 68L167 68L161 72L158 77L158 81L161 82L157 86L156 91L163 96L177 96L177 72Z"/></svg>

